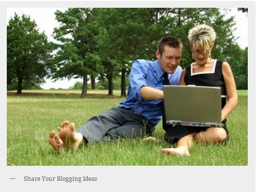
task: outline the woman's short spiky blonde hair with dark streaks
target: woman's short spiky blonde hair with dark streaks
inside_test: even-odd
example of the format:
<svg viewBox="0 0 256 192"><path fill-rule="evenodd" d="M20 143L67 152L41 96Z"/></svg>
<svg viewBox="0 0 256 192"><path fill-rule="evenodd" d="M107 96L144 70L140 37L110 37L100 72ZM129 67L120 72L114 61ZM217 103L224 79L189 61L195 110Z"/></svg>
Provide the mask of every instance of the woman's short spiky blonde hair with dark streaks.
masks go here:
<svg viewBox="0 0 256 192"><path fill-rule="evenodd" d="M212 27L201 24L190 29L188 38L192 49L201 46L206 50L213 47L216 33Z"/></svg>

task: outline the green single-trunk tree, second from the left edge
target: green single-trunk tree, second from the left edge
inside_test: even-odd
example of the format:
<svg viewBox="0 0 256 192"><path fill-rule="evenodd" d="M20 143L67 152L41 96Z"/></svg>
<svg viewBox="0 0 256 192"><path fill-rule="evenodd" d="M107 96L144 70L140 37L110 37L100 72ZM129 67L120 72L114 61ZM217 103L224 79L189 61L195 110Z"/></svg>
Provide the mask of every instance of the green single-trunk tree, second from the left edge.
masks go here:
<svg viewBox="0 0 256 192"><path fill-rule="evenodd" d="M54 57L53 78L82 78L81 97L85 97L88 75L96 76L99 64L93 9L69 8L64 13L57 11L55 15L61 26L54 29L54 38L60 44Z"/></svg>

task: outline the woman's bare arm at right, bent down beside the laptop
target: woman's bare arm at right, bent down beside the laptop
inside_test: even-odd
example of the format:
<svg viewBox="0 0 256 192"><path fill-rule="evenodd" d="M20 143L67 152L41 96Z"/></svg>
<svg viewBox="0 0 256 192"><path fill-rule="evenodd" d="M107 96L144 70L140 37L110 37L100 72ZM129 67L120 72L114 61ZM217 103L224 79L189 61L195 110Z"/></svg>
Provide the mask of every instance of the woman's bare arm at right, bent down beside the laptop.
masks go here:
<svg viewBox="0 0 256 192"><path fill-rule="evenodd" d="M226 87L227 103L222 109L222 121L231 113L238 103L237 88L232 70L227 62L222 64L222 74Z"/></svg>

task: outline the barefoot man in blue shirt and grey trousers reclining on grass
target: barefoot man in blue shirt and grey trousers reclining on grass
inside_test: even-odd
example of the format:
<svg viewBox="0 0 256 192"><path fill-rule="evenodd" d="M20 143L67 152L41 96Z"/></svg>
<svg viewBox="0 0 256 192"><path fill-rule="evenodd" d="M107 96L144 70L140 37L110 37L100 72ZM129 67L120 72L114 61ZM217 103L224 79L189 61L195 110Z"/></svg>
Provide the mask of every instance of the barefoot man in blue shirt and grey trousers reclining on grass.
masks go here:
<svg viewBox="0 0 256 192"><path fill-rule="evenodd" d="M181 54L182 43L179 39L163 37L156 51L157 60L133 62L128 96L124 102L92 117L78 131L75 131L73 122L62 122L58 127L59 135L50 132L50 145L61 152L63 148L77 149L81 143L151 136L162 117L164 75L170 85L178 85L182 73L179 66Z"/></svg>

